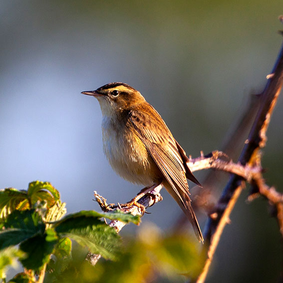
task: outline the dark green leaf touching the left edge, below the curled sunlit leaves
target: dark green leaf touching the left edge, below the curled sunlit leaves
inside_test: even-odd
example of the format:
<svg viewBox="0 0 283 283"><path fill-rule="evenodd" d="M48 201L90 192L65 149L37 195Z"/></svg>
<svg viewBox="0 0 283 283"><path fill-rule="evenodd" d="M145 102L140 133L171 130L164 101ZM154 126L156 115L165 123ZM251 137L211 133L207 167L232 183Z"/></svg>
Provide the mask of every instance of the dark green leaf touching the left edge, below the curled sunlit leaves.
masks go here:
<svg viewBox="0 0 283 283"><path fill-rule="evenodd" d="M15 246L37 233L44 232L44 224L34 210L13 211L0 231L0 250Z"/></svg>

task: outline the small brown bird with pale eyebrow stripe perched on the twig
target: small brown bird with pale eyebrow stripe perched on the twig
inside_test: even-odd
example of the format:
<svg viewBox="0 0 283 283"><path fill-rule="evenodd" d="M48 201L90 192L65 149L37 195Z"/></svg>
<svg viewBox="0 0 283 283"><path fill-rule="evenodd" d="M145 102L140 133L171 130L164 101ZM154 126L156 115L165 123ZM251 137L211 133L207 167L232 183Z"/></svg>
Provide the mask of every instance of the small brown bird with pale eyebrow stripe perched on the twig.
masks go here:
<svg viewBox="0 0 283 283"><path fill-rule="evenodd" d="M191 222L199 242L203 242L187 179L201 184L188 166L186 152L159 113L126 83L111 82L81 93L94 96L100 104L103 151L113 170L132 183L144 185L144 194L164 187Z"/></svg>

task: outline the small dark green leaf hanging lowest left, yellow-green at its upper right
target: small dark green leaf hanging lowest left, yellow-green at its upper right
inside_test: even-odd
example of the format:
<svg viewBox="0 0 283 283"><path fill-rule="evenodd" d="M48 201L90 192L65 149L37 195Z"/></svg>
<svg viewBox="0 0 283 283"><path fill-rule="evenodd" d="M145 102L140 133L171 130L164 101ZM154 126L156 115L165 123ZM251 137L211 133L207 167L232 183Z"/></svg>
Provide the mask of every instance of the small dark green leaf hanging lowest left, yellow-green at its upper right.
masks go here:
<svg viewBox="0 0 283 283"><path fill-rule="evenodd" d="M40 270L45 263L49 262L57 242L57 235L51 229L47 229L44 235L37 234L22 242L19 248L26 254L26 258L20 260L23 267L35 271Z"/></svg>

